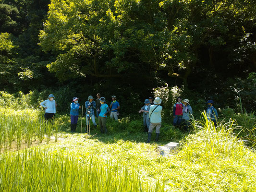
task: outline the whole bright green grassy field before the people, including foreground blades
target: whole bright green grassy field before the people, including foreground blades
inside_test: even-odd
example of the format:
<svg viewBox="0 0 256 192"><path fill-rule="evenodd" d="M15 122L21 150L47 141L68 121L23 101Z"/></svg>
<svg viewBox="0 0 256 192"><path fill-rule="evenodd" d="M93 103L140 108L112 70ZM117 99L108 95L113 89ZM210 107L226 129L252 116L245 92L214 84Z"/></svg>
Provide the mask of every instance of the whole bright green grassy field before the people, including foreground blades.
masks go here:
<svg viewBox="0 0 256 192"><path fill-rule="evenodd" d="M11 112L12 117L29 113L27 110ZM39 112L33 112L37 120ZM117 124L109 120L108 135L92 130L88 136L86 133L69 133L68 120L68 116L59 116L55 120L62 129L57 135L58 142L54 142L54 129L48 144L43 140L23 150L10 150L9 144L4 150L1 140L0 191L256 191L256 153L232 134L235 128L232 121L214 128L208 121L197 120L195 131L189 135L171 131L174 141L180 139L181 147L171 151L170 157L163 157L157 146L168 141L161 135L160 143L146 144L146 133L133 130L139 121L129 125L133 123L122 120ZM3 127L8 124L4 120L0 122L3 135ZM17 126L15 123L13 126L12 142L16 142ZM130 127L118 130L122 126ZM24 140L27 134L30 133L24 131L21 138ZM37 132L32 131L31 137L38 140ZM8 141L7 136L5 142Z"/></svg>

